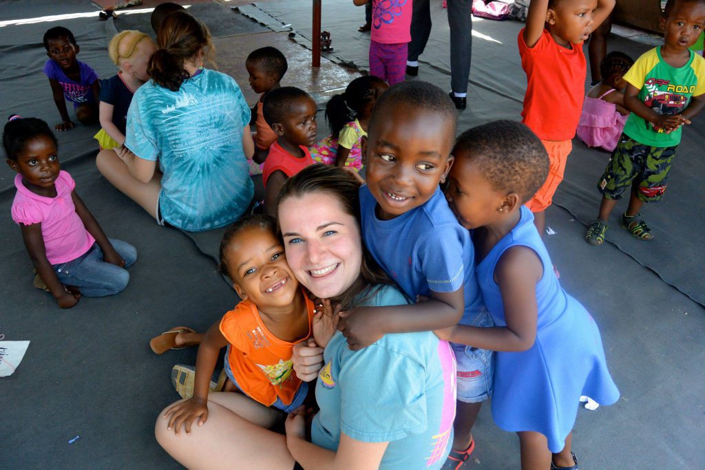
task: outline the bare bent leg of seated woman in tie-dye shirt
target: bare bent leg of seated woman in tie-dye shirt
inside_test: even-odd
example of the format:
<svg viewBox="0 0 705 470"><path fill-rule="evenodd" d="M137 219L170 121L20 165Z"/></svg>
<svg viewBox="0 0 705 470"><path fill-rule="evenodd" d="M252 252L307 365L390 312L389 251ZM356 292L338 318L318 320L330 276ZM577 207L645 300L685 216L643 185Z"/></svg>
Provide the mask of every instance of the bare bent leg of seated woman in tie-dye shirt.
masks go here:
<svg viewBox="0 0 705 470"><path fill-rule="evenodd" d="M157 219L157 202L159 201L159 191L161 191L161 173L159 171L154 172L154 177L149 183L142 183L130 174L128 167L115 151L107 149L99 151L95 165L111 185L140 204L142 209Z"/></svg>

